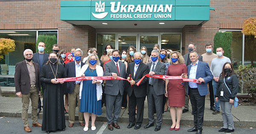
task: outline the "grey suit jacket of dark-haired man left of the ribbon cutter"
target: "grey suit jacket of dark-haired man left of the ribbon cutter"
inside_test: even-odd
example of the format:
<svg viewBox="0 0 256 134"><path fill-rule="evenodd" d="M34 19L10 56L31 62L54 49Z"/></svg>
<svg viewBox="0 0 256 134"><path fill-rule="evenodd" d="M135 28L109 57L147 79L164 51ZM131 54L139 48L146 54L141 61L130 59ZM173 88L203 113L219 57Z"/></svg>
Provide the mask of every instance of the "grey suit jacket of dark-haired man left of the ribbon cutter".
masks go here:
<svg viewBox="0 0 256 134"><path fill-rule="evenodd" d="M120 71L120 76L119 76L116 68L116 62L111 60L108 63L105 63L104 76L111 76L112 73L116 73L117 76L125 78L126 76L125 68L126 68L125 63L122 63L119 61L119 71ZM105 91L104 91L105 94L118 95L118 93L120 92L120 94L123 95L124 90L125 90L124 80L106 80Z"/></svg>

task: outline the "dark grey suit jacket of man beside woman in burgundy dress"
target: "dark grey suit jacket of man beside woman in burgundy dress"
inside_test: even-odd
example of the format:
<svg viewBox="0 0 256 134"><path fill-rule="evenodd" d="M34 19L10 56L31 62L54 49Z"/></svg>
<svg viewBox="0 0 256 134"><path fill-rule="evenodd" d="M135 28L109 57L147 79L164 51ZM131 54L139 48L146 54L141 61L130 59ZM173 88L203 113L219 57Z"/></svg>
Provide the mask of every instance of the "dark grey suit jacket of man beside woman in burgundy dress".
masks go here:
<svg viewBox="0 0 256 134"><path fill-rule="evenodd" d="M150 68L152 64L153 62L147 64L149 72L151 71ZM164 63L161 63L160 61L158 61L154 70L155 74L165 75L165 71L166 71L166 66L164 65ZM153 88L157 96L165 94L166 91L165 91L163 79L157 79L157 78L152 78L152 79L153 79L152 80ZM149 78L148 78L148 83L149 83ZM148 93L148 89L147 89L147 93Z"/></svg>

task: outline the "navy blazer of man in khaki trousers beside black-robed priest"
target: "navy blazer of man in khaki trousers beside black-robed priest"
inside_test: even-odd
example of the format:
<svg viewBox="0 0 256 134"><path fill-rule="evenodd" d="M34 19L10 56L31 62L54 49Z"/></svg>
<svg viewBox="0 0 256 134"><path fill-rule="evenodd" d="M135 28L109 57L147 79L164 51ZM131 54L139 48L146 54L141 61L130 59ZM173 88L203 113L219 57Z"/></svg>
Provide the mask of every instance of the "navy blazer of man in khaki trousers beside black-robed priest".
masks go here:
<svg viewBox="0 0 256 134"><path fill-rule="evenodd" d="M81 62L81 60L80 60ZM81 68L82 66L84 66L84 63L81 62ZM66 67L65 67L66 73L67 73L67 77L76 77L76 64L75 61L69 62L67 63ZM67 83L67 93L72 94L74 88L75 88L75 82L76 81L70 81L70 82L66 82Z"/></svg>

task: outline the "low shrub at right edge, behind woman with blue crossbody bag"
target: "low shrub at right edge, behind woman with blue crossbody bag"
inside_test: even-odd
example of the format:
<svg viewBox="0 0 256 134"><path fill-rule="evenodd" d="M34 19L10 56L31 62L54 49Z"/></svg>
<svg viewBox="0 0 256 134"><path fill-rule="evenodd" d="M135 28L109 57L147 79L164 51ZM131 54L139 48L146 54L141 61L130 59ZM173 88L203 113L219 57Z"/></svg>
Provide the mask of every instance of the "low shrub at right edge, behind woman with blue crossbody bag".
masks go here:
<svg viewBox="0 0 256 134"><path fill-rule="evenodd" d="M250 65L241 65L237 68L236 75L242 92L248 93L253 100L256 100L256 68Z"/></svg>

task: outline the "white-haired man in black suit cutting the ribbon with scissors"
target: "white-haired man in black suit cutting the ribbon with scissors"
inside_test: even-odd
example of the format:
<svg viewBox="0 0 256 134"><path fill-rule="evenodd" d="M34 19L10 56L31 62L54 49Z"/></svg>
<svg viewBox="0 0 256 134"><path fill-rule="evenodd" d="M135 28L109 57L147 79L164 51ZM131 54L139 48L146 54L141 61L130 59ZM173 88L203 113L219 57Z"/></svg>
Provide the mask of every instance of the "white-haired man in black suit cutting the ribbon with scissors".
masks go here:
<svg viewBox="0 0 256 134"><path fill-rule="evenodd" d="M126 77L130 80L129 74L131 74L130 84L127 93L129 96L129 125L127 128L131 128L135 125L135 111L137 105L137 123L134 129L139 129L143 122L144 113L144 101L147 95L148 77L145 77L139 86L136 85L140 79L148 74L148 66L141 62L143 55L140 52L134 53L134 62L129 63L127 68Z"/></svg>

